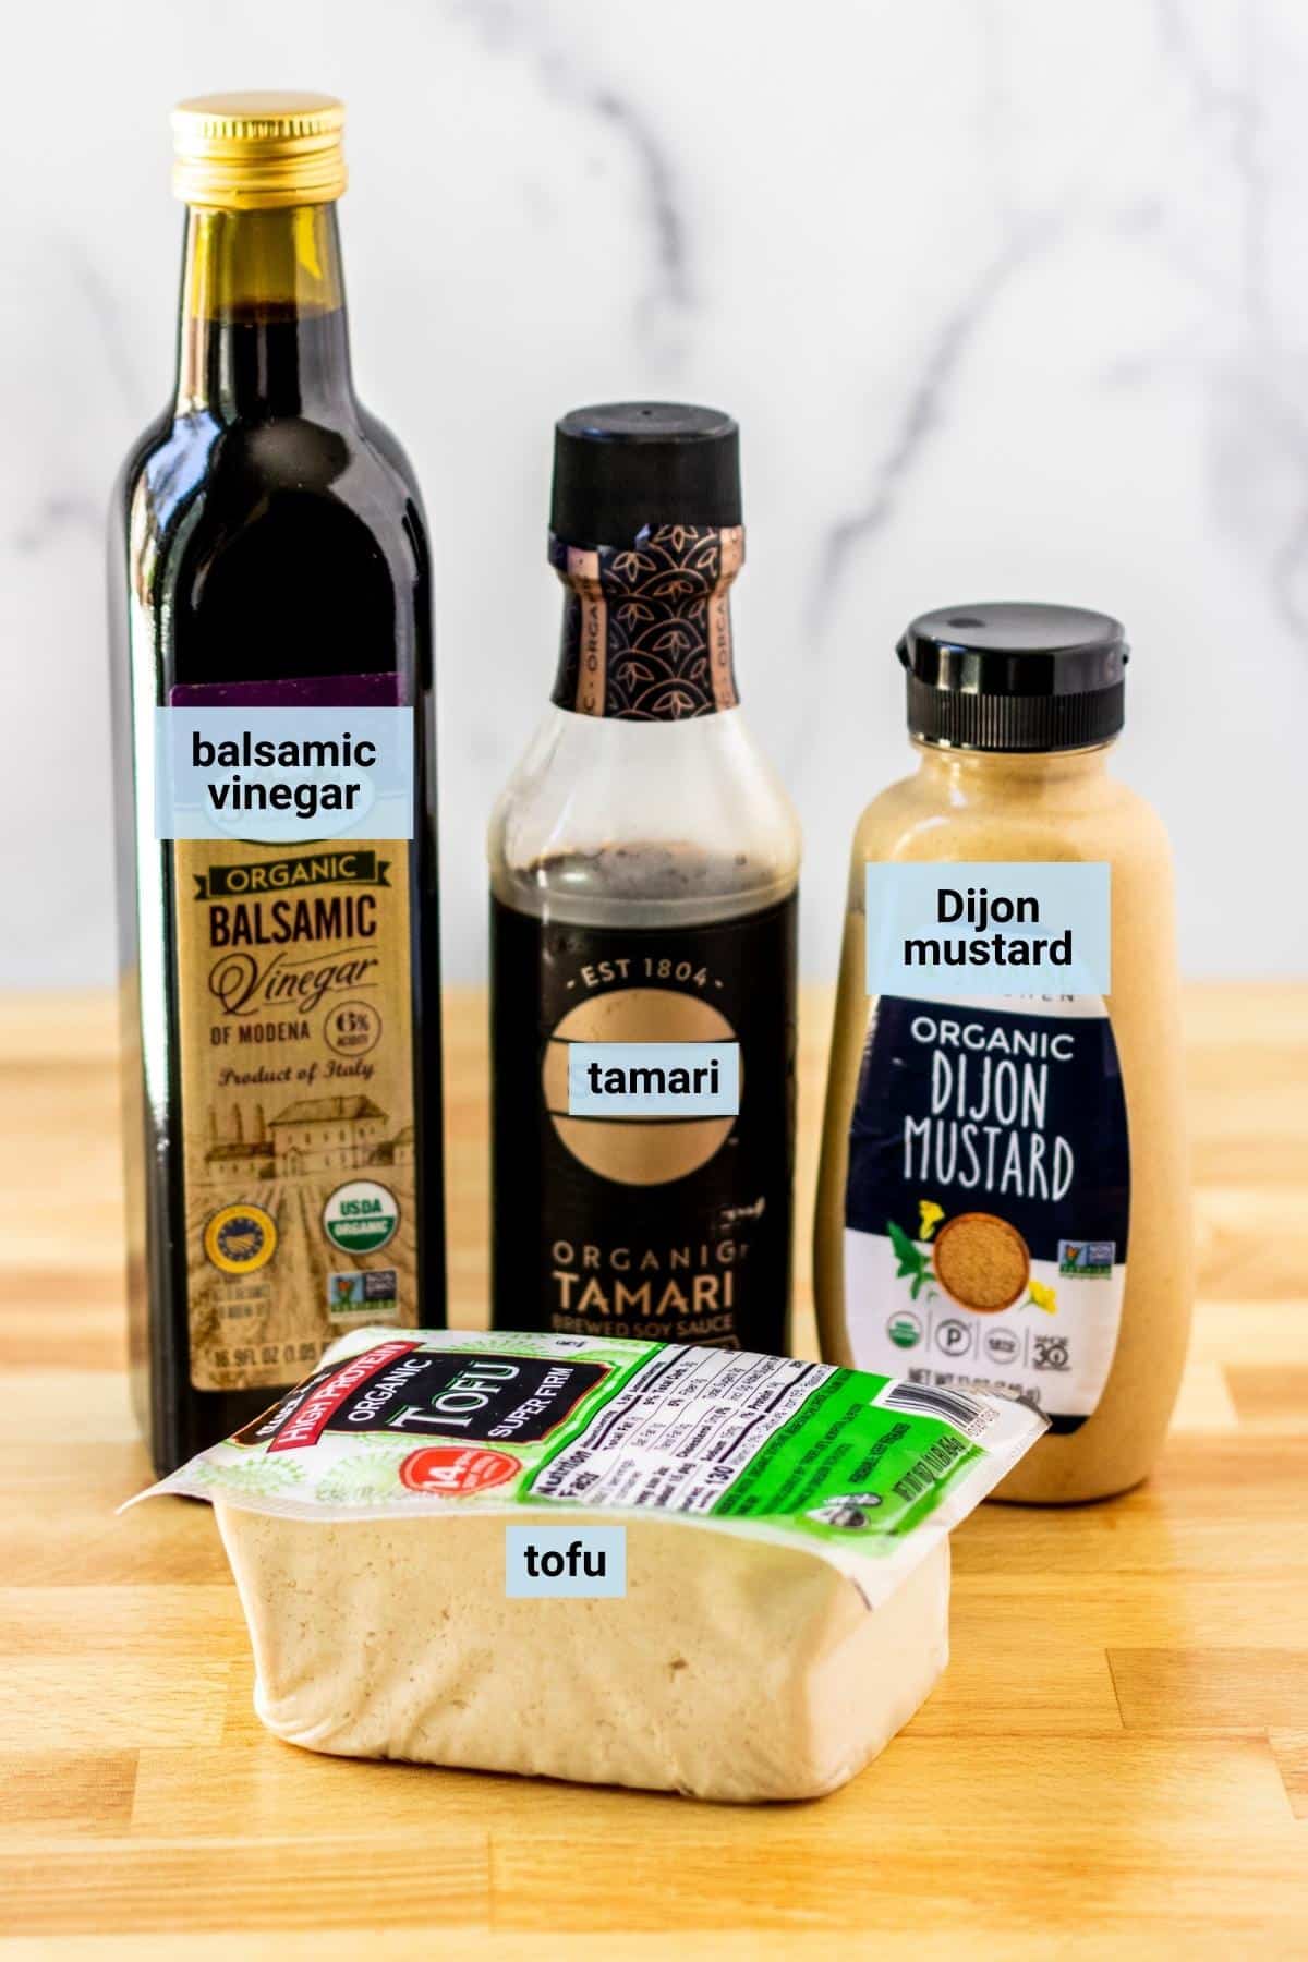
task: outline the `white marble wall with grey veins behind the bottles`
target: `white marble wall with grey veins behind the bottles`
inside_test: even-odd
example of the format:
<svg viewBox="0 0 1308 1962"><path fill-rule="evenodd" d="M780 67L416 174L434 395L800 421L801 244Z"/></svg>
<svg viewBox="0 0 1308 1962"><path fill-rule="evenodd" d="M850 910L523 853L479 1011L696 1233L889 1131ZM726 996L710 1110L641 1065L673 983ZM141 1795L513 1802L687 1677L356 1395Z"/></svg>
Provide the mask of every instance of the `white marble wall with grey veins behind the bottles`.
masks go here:
<svg viewBox="0 0 1308 1962"><path fill-rule="evenodd" d="M280 84L347 98L357 377L433 520L453 979L553 675L551 422L622 394L743 426L808 975L898 630L1008 596L1128 622L1188 973L1308 969L1302 0L65 0L6 57L0 981L112 971L102 510L171 379L167 110Z"/></svg>

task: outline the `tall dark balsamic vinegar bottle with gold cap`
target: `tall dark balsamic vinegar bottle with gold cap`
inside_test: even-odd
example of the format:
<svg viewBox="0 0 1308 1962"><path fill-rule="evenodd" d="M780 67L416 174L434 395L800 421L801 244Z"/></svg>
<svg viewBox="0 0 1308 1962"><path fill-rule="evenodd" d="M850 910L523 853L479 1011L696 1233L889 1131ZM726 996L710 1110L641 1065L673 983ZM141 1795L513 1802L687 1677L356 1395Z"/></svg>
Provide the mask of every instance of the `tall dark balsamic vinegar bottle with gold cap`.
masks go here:
<svg viewBox="0 0 1308 1962"><path fill-rule="evenodd" d="M343 110L212 96L173 122L176 396L110 528L131 1373L159 1472L351 1322L445 1318L428 538L351 381ZM171 704L412 704L412 842L155 842Z"/></svg>

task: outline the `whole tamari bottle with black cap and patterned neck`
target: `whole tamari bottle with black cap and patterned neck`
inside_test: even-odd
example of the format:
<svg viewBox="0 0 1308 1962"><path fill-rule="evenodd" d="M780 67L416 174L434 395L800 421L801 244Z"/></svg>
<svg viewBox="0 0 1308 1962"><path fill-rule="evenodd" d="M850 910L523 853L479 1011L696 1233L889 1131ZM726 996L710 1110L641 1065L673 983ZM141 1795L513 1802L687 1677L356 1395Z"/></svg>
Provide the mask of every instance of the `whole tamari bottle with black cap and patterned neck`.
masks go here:
<svg viewBox="0 0 1308 1962"><path fill-rule="evenodd" d="M565 416L549 557L553 706L488 844L494 1324L784 1352L800 834L737 708L731 418ZM575 1046L631 1042L737 1044L739 1112L577 1114Z"/></svg>

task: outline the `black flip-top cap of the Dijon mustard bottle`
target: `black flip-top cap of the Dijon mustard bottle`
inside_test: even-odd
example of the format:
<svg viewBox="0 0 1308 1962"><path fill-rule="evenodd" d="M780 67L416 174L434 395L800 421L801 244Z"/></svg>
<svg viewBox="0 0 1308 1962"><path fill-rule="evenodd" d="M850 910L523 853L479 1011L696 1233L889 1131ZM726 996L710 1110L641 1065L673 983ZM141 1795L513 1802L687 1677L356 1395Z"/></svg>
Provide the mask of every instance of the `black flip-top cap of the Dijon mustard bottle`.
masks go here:
<svg viewBox="0 0 1308 1962"><path fill-rule="evenodd" d="M898 644L908 728L957 749L1084 749L1122 730L1120 620L1014 600L918 614Z"/></svg>

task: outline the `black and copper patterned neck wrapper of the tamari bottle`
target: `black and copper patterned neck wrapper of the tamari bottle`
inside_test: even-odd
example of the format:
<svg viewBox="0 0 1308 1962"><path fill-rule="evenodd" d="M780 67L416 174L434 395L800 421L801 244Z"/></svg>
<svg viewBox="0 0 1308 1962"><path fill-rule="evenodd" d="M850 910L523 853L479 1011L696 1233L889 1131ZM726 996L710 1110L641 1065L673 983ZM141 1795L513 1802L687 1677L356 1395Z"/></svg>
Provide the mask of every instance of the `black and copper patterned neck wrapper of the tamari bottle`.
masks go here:
<svg viewBox="0 0 1308 1962"><path fill-rule="evenodd" d="M739 524L661 524L596 547L551 532L549 563L569 589L551 700L622 722L735 708L729 587L743 561Z"/></svg>

